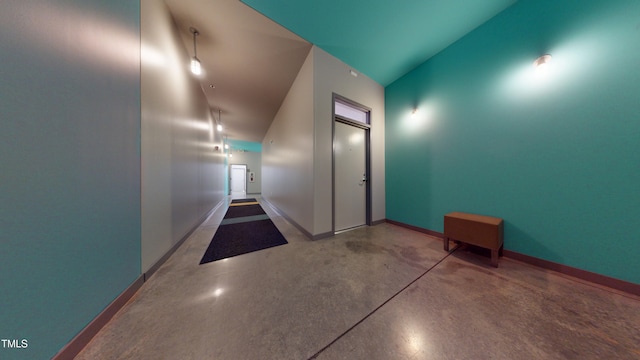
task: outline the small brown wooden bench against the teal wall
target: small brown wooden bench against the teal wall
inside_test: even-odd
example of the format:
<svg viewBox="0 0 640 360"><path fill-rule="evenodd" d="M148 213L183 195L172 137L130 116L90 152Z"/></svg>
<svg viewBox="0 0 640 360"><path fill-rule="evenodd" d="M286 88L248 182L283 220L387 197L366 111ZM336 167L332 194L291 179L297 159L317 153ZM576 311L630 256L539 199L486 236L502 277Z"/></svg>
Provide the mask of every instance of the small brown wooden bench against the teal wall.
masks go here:
<svg viewBox="0 0 640 360"><path fill-rule="evenodd" d="M498 267L502 247L503 221L491 216L452 212L444 216L444 250L449 240L461 241L491 250L491 265Z"/></svg>

